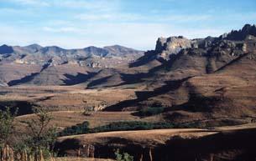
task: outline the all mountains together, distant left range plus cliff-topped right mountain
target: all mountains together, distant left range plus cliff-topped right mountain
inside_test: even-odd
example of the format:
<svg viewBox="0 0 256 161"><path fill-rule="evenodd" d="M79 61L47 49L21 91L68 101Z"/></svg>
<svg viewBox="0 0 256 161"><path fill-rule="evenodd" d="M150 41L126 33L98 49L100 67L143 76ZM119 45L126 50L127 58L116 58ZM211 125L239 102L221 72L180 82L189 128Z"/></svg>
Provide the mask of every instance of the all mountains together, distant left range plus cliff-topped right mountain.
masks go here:
<svg viewBox="0 0 256 161"><path fill-rule="evenodd" d="M118 45L70 50L3 45L0 58L0 86L5 89L30 85L129 90L126 95L133 92L132 97L104 100L102 110L165 107L151 119L196 127L256 120L255 25L219 37L158 38L155 49L147 52Z"/></svg>

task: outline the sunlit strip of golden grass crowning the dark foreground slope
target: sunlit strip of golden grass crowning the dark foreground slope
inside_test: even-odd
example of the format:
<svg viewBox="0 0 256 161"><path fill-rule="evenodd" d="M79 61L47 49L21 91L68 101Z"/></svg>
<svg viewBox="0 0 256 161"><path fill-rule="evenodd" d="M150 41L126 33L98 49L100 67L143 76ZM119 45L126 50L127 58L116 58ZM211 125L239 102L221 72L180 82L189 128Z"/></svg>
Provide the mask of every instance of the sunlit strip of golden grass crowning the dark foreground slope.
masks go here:
<svg viewBox="0 0 256 161"><path fill-rule="evenodd" d="M180 136L182 138L198 138L209 134L217 133L215 131L199 129L199 128L171 128L171 129L153 129L153 130L138 130L138 131L118 131L105 133L88 133L74 136L59 138L59 141L66 138L76 138L81 143L107 143L113 138L123 138L132 140L135 143L142 144L158 144L165 143L170 137Z"/></svg>

